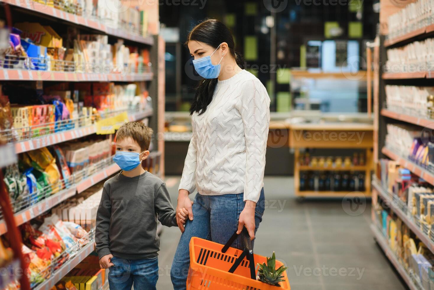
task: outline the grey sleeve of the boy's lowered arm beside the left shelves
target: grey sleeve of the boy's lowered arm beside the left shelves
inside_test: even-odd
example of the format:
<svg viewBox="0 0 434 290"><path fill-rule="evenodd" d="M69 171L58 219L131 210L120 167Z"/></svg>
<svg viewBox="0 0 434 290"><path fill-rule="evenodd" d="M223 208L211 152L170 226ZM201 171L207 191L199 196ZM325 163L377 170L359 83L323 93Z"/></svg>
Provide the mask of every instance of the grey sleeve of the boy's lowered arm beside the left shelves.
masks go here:
<svg viewBox="0 0 434 290"><path fill-rule="evenodd" d="M112 216L112 204L105 186L102 189L101 201L96 213L95 250L101 259L105 255L112 254L109 248L110 217Z"/></svg>

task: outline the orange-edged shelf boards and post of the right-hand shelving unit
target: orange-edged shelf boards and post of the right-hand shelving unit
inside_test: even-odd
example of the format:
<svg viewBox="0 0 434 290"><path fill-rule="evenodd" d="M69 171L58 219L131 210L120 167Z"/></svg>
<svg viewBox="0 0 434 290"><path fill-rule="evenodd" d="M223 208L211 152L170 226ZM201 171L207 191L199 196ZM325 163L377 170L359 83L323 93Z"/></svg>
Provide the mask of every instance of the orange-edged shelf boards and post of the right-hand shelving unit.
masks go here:
<svg viewBox="0 0 434 290"><path fill-rule="evenodd" d="M406 2L410 3L410 2ZM429 25L425 27L418 28L416 30L410 31L404 35L388 38L385 35L388 33L387 19L391 13L396 13L399 11L396 5L394 5L393 0L381 0L380 4L385 9L380 10L380 36L378 36L378 46L374 48L374 63L380 68L378 71L376 82L376 87L374 88L374 124L375 124L375 135L374 135L374 161L379 162L380 158L389 158L396 161L399 165L407 168L415 175L423 178L425 181L434 185L434 173L429 171L424 166L418 165L415 161L408 158L408 156L401 155L400 152L396 151L392 147L386 147L386 125L388 123L400 123L405 122L408 124L418 125L426 129L434 129L434 120L425 119L418 115L417 113L411 113L410 110L402 110L402 112L396 112L391 108L386 107L386 92L385 86L388 84L393 85L412 85L415 86L430 86L430 81L434 77L434 71L427 69L426 71L413 72L407 69L408 64L403 63L400 66L400 71L396 72L382 72L381 65L387 61L387 49L391 47L401 47L411 43L413 41L420 41L432 37L434 35L434 25ZM391 7L391 9L386 9ZM393 7L393 9L392 9ZM418 24L412 24L417 26ZM408 26L410 27L410 26ZM394 33L393 31L391 33ZM430 68L427 65L427 68ZM400 82L399 80L403 80ZM404 81L405 80L405 81ZM432 83L431 83L432 84ZM389 146L393 146L388 144ZM376 208L380 207L379 198L383 202L383 208L390 208L390 211L395 214L420 240L424 243L431 252L434 253L434 239L432 233L427 231L427 227L420 224L418 220L408 212L407 204L401 201L396 195L392 195L385 189L377 177L372 180L372 224L371 229L374 234L375 240L378 245L385 252L386 257L390 260L391 264L396 268L404 282L412 290L422 290L425 289L418 275L414 275L411 270L407 270L400 258L397 257L395 252L389 247L389 242L387 238L378 229L381 227L378 225Z"/></svg>

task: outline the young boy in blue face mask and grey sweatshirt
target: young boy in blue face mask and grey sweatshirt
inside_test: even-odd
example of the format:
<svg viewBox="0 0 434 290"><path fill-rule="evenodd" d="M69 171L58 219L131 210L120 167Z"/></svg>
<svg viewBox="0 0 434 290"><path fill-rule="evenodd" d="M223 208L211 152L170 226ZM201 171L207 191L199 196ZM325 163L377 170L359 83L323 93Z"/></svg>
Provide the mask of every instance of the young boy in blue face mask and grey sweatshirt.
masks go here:
<svg viewBox="0 0 434 290"><path fill-rule="evenodd" d="M135 290L156 289L157 218L177 226L166 185L141 167L151 135L152 129L139 122L126 123L116 133L113 160L122 171L105 181L95 233L100 267L110 268L110 290L131 290L133 283Z"/></svg>

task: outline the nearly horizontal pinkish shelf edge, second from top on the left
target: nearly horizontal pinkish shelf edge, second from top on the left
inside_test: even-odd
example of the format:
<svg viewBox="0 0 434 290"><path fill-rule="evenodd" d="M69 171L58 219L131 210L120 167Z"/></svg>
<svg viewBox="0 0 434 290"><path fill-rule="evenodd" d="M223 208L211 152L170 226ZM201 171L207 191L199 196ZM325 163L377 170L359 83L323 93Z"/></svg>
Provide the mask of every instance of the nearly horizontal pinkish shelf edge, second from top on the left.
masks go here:
<svg viewBox="0 0 434 290"><path fill-rule="evenodd" d="M26 2L26 1L24 1ZM85 72L53 72L27 69L0 69L0 80L21 81L64 81L64 82L144 82L153 79L154 73L85 73Z"/></svg>

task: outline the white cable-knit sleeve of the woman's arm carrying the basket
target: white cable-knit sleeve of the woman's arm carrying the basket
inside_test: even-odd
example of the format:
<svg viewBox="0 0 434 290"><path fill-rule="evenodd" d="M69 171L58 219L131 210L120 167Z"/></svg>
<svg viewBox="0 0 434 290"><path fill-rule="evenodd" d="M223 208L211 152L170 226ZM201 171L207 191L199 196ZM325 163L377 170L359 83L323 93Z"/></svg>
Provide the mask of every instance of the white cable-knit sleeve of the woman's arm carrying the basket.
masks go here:
<svg viewBox="0 0 434 290"><path fill-rule="evenodd" d="M244 201L257 202L263 187L265 152L270 126L270 97L258 79L247 81L243 85L239 106L247 155Z"/></svg>

